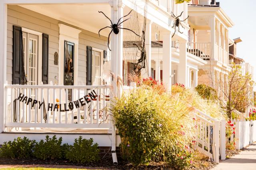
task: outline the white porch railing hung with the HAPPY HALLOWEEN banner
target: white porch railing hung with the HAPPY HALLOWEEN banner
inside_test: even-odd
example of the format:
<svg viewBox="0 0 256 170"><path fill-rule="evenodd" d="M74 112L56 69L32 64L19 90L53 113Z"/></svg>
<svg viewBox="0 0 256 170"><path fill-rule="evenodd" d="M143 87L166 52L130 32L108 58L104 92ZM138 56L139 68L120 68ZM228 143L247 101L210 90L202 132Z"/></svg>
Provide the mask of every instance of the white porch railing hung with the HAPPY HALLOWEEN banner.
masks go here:
<svg viewBox="0 0 256 170"><path fill-rule="evenodd" d="M6 85L5 90L5 127L110 127L108 86Z"/></svg>

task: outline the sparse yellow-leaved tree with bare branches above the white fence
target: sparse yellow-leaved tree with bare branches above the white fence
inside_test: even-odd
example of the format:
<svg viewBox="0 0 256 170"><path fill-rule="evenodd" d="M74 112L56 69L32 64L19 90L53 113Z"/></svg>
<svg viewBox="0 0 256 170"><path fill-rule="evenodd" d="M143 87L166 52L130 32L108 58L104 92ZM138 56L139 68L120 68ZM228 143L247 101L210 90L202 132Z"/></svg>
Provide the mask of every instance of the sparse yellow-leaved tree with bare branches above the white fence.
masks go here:
<svg viewBox="0 0 256 170"><path fill-rule="evenodd" d="M252 86L254 82L252 76L248 73L242 74L241 65L232 63L231 70L228 74L228 82L225 83L224 78L218 77L220 90L227 99L227 102L220 98L223 106L226 106L227 114L230 117L232 111L238 110L242 113L252 104L249 100Z"/></svg>

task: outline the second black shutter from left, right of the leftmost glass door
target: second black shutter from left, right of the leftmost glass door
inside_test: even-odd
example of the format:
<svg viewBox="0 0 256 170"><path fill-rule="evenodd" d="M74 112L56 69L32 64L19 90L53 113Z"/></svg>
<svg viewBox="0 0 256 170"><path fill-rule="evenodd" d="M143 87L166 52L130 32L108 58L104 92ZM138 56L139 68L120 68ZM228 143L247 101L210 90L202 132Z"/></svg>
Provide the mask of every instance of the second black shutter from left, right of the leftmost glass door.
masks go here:
<svg viewBox="0 0 256 170"><path fill-rule="evenodd" d="M49 35L43 33L42 37L42 82L48 84Z"/></svg>

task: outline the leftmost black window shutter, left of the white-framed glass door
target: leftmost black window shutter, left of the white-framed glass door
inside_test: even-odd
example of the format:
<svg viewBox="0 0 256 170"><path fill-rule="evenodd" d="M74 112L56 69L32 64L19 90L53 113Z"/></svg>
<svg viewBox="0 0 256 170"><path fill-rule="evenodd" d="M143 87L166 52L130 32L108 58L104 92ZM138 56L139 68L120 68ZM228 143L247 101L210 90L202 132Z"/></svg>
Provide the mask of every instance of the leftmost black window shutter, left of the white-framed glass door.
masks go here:
<svg viewBox="0 0 256 170"><path fill-rule="evenodd" d="M12 33L12 84L20 84L22 74L22 28L13 25Z"/></svg>

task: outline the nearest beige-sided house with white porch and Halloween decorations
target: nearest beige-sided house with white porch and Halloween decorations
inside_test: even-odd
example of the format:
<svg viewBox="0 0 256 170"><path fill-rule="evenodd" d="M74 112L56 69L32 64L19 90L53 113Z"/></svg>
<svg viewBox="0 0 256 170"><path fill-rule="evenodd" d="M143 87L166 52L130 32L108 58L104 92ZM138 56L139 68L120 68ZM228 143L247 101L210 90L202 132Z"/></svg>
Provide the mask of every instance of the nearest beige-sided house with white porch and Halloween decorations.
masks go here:
<svg viewBox="0 0 256 170"><path fill-rule="evenodd" d="M145 1L140 2L135 12L143 18L140 9ZM118 34L104 29L99 37L98 31L109 26L110 20L98 11L117 23L131 9L134 0L0 2L0 145L18 136L39 140L56 134L72 143L82 135L115 150L120 137L104 108L122 90L114 77L124 76L124 85L129 85L129 61L123 58L123 29ZM176 28L172 38L175 18L171 12L176 16L183 12L183 20L188 15L187 4L148 1L145 44L150 62L141 75L162 80L168 90L176 82L193 88L198 66L207 62L188 53L187 20L180 27L184 33ZM123 27L128 27L126 22Z"/></svg>

